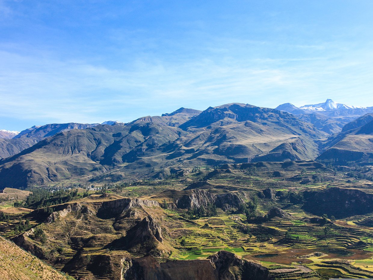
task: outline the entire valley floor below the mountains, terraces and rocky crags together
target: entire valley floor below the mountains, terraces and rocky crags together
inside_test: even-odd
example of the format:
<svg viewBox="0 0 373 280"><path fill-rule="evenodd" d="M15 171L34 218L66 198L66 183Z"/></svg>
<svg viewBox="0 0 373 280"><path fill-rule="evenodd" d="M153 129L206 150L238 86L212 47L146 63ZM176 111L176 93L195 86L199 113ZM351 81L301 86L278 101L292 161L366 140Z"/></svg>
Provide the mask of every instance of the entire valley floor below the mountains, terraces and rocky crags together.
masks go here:
<svg viewBox="0 0 373 280"><path fill-rule="evenodd" d="M0 233L75 279L372 278L372 182L349 176L314 161L257 162L64 203L39 193L43 204L0 219Z"/></svg>

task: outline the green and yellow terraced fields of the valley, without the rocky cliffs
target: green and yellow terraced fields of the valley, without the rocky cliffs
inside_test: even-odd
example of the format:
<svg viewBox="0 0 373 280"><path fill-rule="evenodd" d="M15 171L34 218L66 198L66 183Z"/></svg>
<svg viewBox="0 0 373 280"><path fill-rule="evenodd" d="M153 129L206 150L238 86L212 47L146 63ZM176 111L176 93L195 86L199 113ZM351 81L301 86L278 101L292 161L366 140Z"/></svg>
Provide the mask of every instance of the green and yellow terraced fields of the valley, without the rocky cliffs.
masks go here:
<svg viewBox="0 0 373 280"><path fill-rule="evenodd" d="M274 171L278 171L275 173ZM204 177L209 171L202 171ZM274 174L278 177L274 177ZM303 183L304 178L315 174L322 181ZM186 180L186 178L188 180ZM186 178L173 178L161 181L138 181L119 193L123 197L150 199L155 196L162 204L166 201L169 209L149 210L149 213L162 224L163 238L167 248L172 248L169 259L205 259L220 250L234 252L242 258L255 260L269 268L276 279L327 279L328 277L373 277L373 212L344 215L336 220L311 213L304 207L304 200L291 201L289 191L303 193L306 191L324 192L335 187L348 190L361 190L371 194L372 183L364 180L349 180L344 173L329 169L287 168L280 170L257 170L248 174L246 169L233 169L232 172L220 172L204 180L197 189L204 189L213 194L232 192L248 202L257 197L256 215L264 217L271 209L279 208L290 218L272 217L248 220L245 214L238 214L237 209L223 211L210 217L189 219L185 217L186 209L175 207L178 197L173 197L170 190L181 191L191 183L200 180L201 173L189 173ZM111 189L115 192L115 189ZM98 196L76 200L89 203L87 213L99 207ZM95 200L96 199L96 200ZM114 198L113 198L114 199ZM110 200L109 197L105 200ZM340 207L337 205L330 207ZM91 207L91 206L90 206ZM141 210L143 211L143 209ZM327 211L327 209L326 209ZM341 211L344 211L343 209ZM148 213L148 214L149 214ZM15 227L25 220L25 213L9 214L9 221L0 221L0 234L6 238L15 236ZM133 215L137 215L134 212ZM40 224L37 215L28 215L29 228L40 225L50 241L47 245L38 243L41 248L52 250L63 247L63 251L53 256L58 261L53 266L66 270L66 265L77 258L85 259L100 256L113 256L118 253L107 244L126 235L128 228L118 229L113 219L103 219L81 212L70 213L60 221ZM128 222L129 223L129 222ZM135 224L135 223L134 223ZM126 224L133 226L134 224ZM123 226L124 227L124 226ZM94 244L79 248L79 242L72 246L66 241L97 237ZM185 240L185 244L181 245ZM123 252L121 252L123 253ZM128 253L125 251L125 253ZM109 279L109 276L95 276L83 268L70 273L76 279ZM91 277L91 278L90 278ZM93 278L92 278L93 277Z"/></svg>

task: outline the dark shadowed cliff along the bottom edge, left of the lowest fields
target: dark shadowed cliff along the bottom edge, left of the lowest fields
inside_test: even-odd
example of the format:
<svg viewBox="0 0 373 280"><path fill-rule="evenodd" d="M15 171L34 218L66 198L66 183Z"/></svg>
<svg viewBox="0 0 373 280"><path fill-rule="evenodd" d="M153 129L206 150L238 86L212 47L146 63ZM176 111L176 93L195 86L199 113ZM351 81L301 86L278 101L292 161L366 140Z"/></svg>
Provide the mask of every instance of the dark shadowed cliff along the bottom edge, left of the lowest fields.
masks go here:
<svg viewBox="0 0 373 280"><path fill-rule="evenodd" d="M122 261L123 280L269 280L267 268L238 258L226 251L208 259L167 261L159 263L151 256L125 258Z"/></svg>

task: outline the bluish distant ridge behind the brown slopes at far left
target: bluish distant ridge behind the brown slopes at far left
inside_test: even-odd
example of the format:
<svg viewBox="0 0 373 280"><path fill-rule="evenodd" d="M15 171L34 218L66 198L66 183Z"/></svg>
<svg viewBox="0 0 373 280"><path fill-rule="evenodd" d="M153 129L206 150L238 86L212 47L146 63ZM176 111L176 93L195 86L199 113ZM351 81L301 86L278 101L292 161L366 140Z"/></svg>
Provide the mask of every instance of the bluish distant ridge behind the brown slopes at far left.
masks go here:
<svg viewBox="0 0 373 280"><path fill-rule="evenodd" d="M85 129L89 127L94 127L96 125L98 124L78 124L76 122L69 122L67 124L46 124L41 126L33 126L31 128L22 130L14 138L17 139L23 137L31 137L40 141L46 137L53 136L54 134L63 131L69 131L72 129Z"/></svg>

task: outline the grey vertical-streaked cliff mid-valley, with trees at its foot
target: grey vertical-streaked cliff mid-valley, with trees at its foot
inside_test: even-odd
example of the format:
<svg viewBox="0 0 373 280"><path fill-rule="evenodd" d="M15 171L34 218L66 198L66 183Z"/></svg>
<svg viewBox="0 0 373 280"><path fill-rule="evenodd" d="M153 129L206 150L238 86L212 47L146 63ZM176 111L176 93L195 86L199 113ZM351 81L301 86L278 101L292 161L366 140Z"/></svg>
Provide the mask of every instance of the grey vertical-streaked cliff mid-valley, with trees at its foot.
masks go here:
<svg viewBox="0 0 373 280"><path fill-rule="evenodd" d="M241 203L243 203L243 200L234 193L215 195L214 193L200 189L191 190L176 200L177 207L182 209L198 208L201 206L206 208L208 204L214 204L216 207L222 209L230 209L231 207L238 207Z"/></svg>

